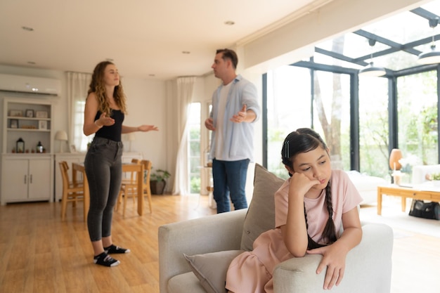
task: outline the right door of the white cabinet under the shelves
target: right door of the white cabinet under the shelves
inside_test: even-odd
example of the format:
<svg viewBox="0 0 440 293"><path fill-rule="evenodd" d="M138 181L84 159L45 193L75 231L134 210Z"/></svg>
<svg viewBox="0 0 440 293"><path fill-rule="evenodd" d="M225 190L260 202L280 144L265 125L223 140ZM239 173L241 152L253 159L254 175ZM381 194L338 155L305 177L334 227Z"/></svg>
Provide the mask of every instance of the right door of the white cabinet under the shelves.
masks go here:
<svg viewBox="0 0 440 293"><path fill-rule="evenodd" d="M29 200L50 200L51 197L51 160L29 160Z"/></svg>

